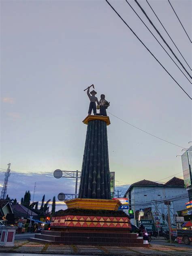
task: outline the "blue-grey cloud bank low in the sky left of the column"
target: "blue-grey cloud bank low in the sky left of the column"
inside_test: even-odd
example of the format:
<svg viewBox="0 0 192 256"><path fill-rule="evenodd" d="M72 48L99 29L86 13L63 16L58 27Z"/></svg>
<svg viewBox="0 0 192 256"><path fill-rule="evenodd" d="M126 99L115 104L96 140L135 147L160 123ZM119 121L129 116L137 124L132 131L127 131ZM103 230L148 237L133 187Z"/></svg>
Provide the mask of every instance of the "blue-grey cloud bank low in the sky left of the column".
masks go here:
<svg viewBox="0 0 192 256"><path fill-rule="evenodd" d="M0 181L4 179L4 172L0 171ZM36 182L36 192L34 193L34 184ZM75 179L55 179L53 172L34 173L26 172L19 173L11 171L11 175L8 181L7 194L12 199L17 199L17 202L21 201L21 197L24 197L26 191L31 193L31 202L38 201L39 206L41 200L45 194L45 202L51 199L53 196L56 198L56 211L60 209L66 209L66 205L63 202L58 201L57 196L60 192L64 194L75 194ZM51 208L51 207L50 207Z"/></svg>

